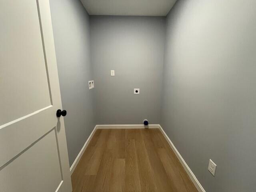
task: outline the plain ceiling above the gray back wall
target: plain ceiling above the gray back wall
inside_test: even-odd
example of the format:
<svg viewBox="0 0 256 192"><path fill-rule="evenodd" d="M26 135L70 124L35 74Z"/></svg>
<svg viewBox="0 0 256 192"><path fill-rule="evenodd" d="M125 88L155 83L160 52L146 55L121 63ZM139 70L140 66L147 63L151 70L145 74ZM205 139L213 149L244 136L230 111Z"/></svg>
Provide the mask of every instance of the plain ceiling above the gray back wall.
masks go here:
<svg viewBox="0 0 256 192"><path fill-rule="evenodd" d="M81 0L89 15L166 16L176 0Z"/></svg>

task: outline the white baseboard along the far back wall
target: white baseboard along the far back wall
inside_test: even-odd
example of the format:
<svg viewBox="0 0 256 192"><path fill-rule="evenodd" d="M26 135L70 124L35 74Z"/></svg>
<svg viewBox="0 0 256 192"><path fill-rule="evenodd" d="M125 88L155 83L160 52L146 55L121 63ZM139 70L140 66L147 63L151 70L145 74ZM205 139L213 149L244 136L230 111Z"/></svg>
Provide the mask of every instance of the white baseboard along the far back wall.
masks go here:
<svg viewBox="0 0 256 192"><path fill-rule="evenodd" d="M143 124L130 124L130 125L97 125L97 129L144 129L144 128L159 128L158 124L149 124L144 126Z"/></svg>

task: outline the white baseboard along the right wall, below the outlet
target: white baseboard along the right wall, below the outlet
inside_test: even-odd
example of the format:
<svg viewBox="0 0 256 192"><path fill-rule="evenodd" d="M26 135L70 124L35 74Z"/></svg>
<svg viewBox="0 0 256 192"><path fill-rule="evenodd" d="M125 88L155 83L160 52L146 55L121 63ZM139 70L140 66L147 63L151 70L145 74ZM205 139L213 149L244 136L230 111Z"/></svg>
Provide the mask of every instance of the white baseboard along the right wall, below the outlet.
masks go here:
<svg viewBox="0 0 256 192"><path fill-rule="evenodd" d="M191 179L191 181L193 182L193 184L195 185L196 189L198 190L198 192L205 192L204 188L202 187L202 185L200 184L200 182L197 180L196 176L194 175L194 173L192 172L192 170L189 168L189 166L186 164L185 160L182 158L182 156L180 155L180 153L178 152L178 150L176 149L176 147L174 146L174 144L172 143L172 141L170 140L170 138L166 135L166 133L164 132L163 128L159 125L159 129L162 132L162 134L164 135L165 139L167 140L168 144L170 145L170 147L172 148L173 152L175 153L175 155L177 156L178 160L180 161L180 163L182 164L183 168L185 169L185 171L187 172L189 178Z"/></svg>

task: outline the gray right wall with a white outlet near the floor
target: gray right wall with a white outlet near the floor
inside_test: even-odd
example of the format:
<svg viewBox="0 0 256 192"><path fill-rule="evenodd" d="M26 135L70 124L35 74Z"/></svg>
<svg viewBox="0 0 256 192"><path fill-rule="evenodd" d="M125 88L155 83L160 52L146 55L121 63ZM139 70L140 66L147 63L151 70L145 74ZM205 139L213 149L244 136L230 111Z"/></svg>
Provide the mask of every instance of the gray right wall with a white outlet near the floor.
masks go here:
<svg viewBox="0 0 256 192"><path fill-rule="evenodd" d="M256 191L255 19L255 0L179 0L166 21L160 124L207 192Z"/></svg>

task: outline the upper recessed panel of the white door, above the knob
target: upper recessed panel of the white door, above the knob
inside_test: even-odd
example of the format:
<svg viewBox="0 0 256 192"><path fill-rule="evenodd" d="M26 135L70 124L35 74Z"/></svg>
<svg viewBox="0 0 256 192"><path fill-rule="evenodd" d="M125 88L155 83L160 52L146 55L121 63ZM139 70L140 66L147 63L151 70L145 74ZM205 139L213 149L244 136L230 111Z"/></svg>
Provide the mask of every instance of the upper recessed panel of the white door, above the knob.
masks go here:
<svg viewBox="0 0 256 192"><path fill-rule="evenodd" d="M6 45L0 46L4 65L0 125L51 105L36 1L13 5L14 1L6 0L4 4L0 12L1 45Z"/></svg>

